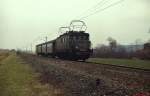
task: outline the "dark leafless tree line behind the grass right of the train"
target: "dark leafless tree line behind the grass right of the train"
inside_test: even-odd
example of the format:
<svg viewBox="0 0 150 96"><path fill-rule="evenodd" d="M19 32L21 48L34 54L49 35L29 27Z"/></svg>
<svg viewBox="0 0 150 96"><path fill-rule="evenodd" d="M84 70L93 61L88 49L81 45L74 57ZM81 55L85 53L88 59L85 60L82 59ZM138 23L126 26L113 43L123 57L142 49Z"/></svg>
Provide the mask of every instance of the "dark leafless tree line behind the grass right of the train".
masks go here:
<svg viewBox="0 0 150 96"><path fill-rule="evenodd" d="M136 40L132 45L121 45L112 37L109 37L107 41L109 45L98 44L94 48L93 57L150 59L150 40L145 44Z"/></svg>

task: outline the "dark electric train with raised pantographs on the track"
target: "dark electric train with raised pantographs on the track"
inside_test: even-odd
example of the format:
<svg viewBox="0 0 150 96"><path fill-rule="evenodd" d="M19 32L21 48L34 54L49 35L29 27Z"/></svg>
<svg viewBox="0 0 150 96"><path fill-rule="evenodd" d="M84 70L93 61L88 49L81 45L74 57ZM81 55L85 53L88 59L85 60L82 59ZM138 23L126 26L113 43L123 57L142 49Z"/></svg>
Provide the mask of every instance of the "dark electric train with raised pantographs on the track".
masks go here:
<svg viewBox="0 0 150 96"><path fill-rule="evenodd" d="M69 60L86 60L92 54L89 33L86 33L87 26L83 21L73 20L69 27L54 40L46 41L36 45L36 54L41 56L51 56Z"/></svg>

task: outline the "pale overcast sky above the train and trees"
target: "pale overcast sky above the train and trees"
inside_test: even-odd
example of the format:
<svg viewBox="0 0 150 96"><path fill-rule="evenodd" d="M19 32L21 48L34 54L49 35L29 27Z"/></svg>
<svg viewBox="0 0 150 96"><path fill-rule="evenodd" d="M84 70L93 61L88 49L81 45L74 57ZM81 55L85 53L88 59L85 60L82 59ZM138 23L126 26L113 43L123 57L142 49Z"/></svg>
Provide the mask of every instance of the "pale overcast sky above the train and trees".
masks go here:
<svg viewBox="0 0 150 96"><path fill-rule="evenodd" d="M86 11L101 0L0 0L0 48L25 48L58 36L58 28L73 19L87 16ZM104 0L97 9L119 0ZM103 5L103 6L102 6ZM85 12L86 11L86 12ZM124 0L118 5L84 18L93 45L107 43L108 37L121 44L150 39L150 0ZM43 38L43 39L42 39Z"/></svg>

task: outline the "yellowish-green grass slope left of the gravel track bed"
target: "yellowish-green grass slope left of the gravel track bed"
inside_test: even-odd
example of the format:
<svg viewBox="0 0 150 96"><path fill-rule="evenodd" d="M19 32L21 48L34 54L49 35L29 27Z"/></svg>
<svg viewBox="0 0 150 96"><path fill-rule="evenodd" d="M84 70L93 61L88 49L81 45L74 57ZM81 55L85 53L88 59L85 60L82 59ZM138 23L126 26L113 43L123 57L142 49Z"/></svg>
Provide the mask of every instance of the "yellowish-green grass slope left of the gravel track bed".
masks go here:
<svg viewBox="0 0 150 96"><path fill-rule="evenodd" d="M49 86L39 82L39 74L15 54L0 59L0 96L53 96Z"/></svg>

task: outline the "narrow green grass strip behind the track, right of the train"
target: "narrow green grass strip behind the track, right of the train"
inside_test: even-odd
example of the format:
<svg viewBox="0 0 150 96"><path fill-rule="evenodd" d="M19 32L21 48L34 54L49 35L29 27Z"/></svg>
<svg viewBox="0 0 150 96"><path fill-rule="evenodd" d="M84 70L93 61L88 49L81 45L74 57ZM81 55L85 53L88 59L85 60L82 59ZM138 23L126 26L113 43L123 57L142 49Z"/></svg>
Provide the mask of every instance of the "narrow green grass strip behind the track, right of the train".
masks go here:
<svg viewBox="0 0 150 96"><path fill-rule="evenodd" d="M150 61L139 59L110 59L110 58L90 58L87 62L99 64L111 64L118 66L126 66L132 68L150 69Z"/></svg>

